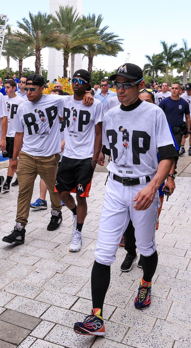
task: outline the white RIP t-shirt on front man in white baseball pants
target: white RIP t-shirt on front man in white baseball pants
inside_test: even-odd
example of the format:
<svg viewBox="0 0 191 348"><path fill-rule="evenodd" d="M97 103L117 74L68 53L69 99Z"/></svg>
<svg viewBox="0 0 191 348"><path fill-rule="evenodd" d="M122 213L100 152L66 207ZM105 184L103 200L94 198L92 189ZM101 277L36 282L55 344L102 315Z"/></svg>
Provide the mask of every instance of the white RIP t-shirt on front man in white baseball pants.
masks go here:
<svg viewBox="0 0 191 348"><path fill-rule="evenodd" d="M108 171L138 178L157 171L158 148L174 141L162 109L143 101L132 111L117 105L105 113L102 144L111 150Z"/></svg>

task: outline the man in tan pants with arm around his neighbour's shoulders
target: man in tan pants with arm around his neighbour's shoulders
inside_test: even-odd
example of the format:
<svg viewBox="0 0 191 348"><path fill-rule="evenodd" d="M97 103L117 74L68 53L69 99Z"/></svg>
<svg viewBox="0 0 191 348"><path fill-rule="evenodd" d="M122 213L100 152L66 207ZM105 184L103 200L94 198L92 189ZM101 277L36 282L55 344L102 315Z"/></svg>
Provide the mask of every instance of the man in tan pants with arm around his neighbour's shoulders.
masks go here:
<svg viewBox="0 0 191 348"><path fill-rule="evenodd" d="M24 243L34 181L38 174L44 180L51 200L51 219L47 230L57 230L62 222L62 204L54 187L61 152L58 107L61 100L68 96L44 95L43 89L42 76L28 76L24 88L28 100L17 109L18 117L14 124L16 134L10 166L13 171L17 171L19 194L16 226L10 235L3 237L3 242L7 243ZM91 103L92 99L91 94L87 93L83 101L88 103L89 100Z"/></svg>

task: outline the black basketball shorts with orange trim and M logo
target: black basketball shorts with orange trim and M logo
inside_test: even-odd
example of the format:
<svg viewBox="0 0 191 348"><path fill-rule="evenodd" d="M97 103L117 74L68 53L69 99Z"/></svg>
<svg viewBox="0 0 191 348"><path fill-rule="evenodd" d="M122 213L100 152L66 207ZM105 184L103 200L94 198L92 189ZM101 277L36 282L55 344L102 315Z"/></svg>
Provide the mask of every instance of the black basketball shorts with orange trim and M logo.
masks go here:
<svg viewBox="0 0 191 348"><path fill-rule="evenodd" d="M75 159L63 156L56 174L56 190L59 193L67 191L76 193L80 197L89 197L94 174L91 160L92 157Z"/></svg>

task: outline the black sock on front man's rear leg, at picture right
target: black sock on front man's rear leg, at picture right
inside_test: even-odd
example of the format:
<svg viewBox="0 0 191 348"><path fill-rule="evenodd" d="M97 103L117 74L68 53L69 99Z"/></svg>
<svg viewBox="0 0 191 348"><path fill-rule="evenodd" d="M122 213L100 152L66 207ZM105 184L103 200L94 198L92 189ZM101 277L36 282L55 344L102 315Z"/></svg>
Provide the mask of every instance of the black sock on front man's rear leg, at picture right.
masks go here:
<svg viewBox="0 0 191 348"><path fill-rule="evenodd" d="M151 256L141 255L141 261L143 268L143 279L145 280L145 282L151 282L158 263L157 251L155 251Z"/></svg>

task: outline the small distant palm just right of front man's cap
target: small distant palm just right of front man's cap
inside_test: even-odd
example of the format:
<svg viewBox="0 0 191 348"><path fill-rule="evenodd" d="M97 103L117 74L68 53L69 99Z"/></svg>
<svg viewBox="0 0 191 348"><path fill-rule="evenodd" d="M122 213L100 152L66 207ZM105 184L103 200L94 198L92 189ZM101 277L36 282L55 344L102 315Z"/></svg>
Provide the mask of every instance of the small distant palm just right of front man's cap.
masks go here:
<svg viewBox="0 0 191 348"><path fill-rule="evenodd" d="M160 54L153 54L152 56L145 55L149 63L144 65L143 71L146 74L152 75L152 79L158 76L158 72L164 71L165 64L163 63L163 57Z"/></svg>

